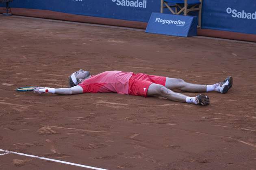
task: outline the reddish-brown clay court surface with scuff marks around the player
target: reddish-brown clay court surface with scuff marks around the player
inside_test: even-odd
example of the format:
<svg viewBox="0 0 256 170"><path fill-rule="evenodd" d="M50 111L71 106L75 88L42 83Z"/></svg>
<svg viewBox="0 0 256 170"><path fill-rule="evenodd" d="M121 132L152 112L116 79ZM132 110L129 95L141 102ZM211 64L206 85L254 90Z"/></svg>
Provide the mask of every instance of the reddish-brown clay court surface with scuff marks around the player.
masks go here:
<svg viewBox="0 0 256 170"><path fill-rule="evenodd" d="M256 169L255 44L15 16L0 16L0 39L0 149L112 170ZM67 87L80 68L234 85L209 106L15 91ZM86 169L2 153L2 170Z"/></svg>

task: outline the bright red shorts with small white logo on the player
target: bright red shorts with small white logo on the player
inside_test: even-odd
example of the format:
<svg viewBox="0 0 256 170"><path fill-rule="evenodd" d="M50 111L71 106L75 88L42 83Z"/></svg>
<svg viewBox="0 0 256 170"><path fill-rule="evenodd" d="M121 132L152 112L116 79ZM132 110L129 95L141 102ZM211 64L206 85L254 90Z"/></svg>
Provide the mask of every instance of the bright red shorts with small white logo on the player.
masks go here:
<svg viewBox="0 0 256 170"><path fill-rule="evenodd" d="M129 95L147 96L148 87L152 83L165 86L166 77L153 76L143 73L132 74L129 79Z"/></svg>

